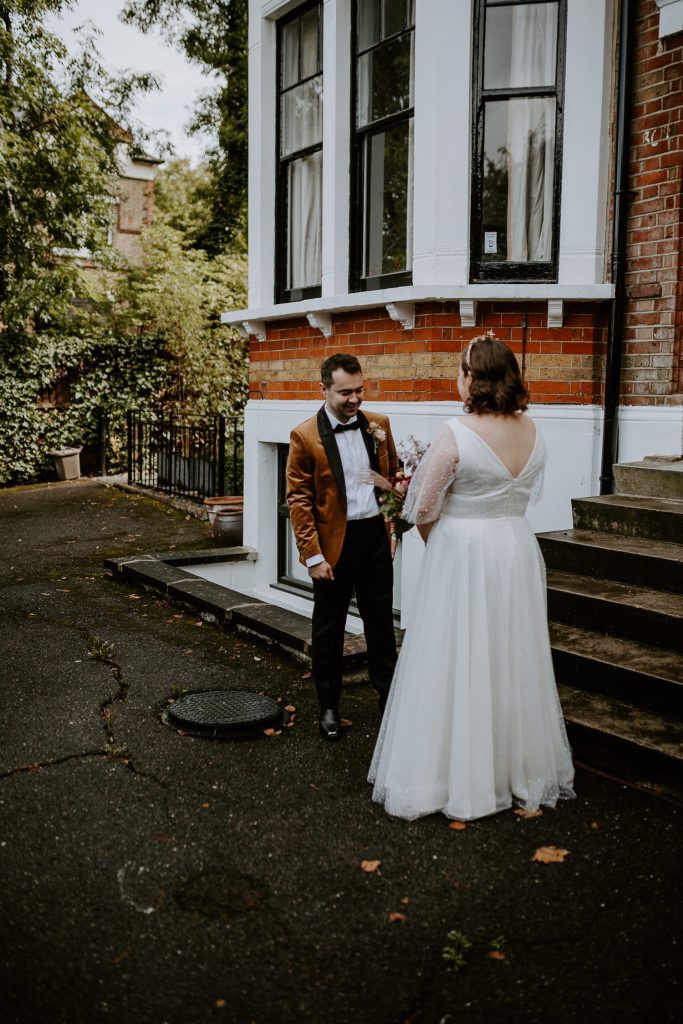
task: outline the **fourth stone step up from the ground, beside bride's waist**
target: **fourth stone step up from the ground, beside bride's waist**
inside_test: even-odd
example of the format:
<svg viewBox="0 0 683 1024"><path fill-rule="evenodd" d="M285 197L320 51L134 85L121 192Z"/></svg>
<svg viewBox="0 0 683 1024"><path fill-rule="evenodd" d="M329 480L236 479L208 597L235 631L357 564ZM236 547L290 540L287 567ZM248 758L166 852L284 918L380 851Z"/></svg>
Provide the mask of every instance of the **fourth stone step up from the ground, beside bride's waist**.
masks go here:
<svg viewBox="0 0 683 1024"><path fill-rule="evenodd" d="M539 534L549 569L683 593L683 544L595 529Z"/></svg>

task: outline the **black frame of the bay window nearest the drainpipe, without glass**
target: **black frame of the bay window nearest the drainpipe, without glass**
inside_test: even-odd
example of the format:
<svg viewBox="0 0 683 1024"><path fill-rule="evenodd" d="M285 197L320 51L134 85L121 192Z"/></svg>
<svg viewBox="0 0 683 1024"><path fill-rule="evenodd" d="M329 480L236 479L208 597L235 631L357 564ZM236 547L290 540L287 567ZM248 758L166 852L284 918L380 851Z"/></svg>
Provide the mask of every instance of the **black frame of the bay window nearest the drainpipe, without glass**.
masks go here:
<svg viewBox="0 0 683 1024"><path fill-rule="evenodd" d="M470 200L470 283L557 282L561 211L561 173L564 111L564 61L566 50L566 0L557 0L557 41L555 86L484 89L484 45L486 10L515 7L519 4L546 3L548 0L477 0L474 15L472 67L472 187ZM548 261L483 259L483 147L486 102L526 96L550 96L555 99L555 167L553 172L553 212L551 259Z"/></svg>

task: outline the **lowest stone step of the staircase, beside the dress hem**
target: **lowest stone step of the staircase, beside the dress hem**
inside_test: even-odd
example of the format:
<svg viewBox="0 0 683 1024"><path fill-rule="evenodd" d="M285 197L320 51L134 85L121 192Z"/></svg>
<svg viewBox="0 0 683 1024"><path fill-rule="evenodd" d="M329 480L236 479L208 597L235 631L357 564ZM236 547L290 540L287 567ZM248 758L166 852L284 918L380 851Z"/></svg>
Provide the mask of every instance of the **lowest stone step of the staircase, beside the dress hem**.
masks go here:
<svg viewBox="0 0 683 1024"><path fill-rule="evenodd" d="M679 722L600 693L558 686L574 762L683 795Z"/></svg>

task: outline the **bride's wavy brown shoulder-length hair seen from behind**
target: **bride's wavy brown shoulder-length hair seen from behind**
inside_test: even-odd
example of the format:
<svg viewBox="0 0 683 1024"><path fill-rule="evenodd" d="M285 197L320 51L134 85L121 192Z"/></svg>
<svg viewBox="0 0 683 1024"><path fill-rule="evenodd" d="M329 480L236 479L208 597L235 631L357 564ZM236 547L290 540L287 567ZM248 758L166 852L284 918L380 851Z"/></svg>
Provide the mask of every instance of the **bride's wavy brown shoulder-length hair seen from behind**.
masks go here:
<svg viewBox="0 0 683 1024"><path fill-rule="evenodd" d="M468 413L523 413L528 391L511 348L489 334L473 338L462 356L463 373L470 376Z"/></svg>

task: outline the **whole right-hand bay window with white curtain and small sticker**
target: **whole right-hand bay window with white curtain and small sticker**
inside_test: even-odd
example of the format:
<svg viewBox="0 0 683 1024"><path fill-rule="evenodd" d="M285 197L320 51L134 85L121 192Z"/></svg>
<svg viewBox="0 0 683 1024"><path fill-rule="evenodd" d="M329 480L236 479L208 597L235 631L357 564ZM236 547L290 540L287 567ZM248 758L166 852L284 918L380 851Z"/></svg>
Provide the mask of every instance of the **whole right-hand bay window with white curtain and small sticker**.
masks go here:
<svg viewBox="0 0 683 1024"><path fill-rule="evenodd" d="M557 279L564 0L478 0L472 281Z"/></svg>

